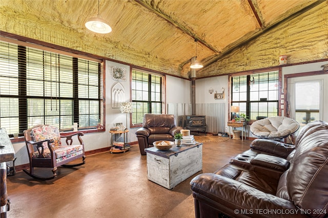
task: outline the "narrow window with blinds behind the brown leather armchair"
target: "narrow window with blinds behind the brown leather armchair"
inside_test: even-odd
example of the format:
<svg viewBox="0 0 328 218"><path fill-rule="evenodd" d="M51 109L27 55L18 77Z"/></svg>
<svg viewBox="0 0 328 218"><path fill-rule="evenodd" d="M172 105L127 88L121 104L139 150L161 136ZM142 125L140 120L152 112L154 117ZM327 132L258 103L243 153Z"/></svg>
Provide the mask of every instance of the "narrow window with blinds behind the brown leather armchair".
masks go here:
<svg viewBox="0 0 328 218"><path fill-rule="evenodd" d="M132 70L132 125L142 124L145 114L162 113L163 76Z"/></svg>

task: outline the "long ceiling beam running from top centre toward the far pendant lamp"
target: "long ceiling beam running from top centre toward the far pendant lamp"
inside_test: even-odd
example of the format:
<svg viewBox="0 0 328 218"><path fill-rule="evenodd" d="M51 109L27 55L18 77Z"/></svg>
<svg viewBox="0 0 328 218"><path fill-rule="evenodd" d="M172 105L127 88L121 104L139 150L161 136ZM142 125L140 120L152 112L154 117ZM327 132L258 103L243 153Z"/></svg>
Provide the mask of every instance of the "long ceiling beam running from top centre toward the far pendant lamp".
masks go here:
<svg viewBox="0 0 328 218"><path fill-rule="evenodd" d="M215 53L219 53L219 51L214 48L213 46L211 46L209 43L207 43L206 41L202 40L199 36L197 36L195 33L191 32L188 28L181 26L180 24L176 23L175 21L173 21L170 17L168 17L166 14L163 14L162 12L156 10L155 8L153 8L151 5L148 5L147 3L141 1L141 0L134 0L136 3L138 3L139 5L145 7L146 9L148 9L149 11L153 12L154 14L156 14L157 16L159 16L160 18L166 20L169 24L173 25L174 27L176 27L177 29L181 30L183 33L186 33L187 35L189 35L190 37L192 37L193 39L198 39L198 42L200 42L202 45L206 46L207 48L209 48L210 50L212 50Z"/></svg>

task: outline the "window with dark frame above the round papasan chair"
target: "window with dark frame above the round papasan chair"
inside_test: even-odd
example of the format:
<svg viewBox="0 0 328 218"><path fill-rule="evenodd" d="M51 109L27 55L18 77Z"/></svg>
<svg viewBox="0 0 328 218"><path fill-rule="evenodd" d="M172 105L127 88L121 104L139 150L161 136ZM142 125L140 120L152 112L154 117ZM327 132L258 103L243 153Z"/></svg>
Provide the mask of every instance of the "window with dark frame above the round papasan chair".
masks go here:
<svg viewBox="0 0 328 218"><path fill-rule="evenodd" d="M278 116L278 71L233 76L231 103L251 120Z"/></svg>

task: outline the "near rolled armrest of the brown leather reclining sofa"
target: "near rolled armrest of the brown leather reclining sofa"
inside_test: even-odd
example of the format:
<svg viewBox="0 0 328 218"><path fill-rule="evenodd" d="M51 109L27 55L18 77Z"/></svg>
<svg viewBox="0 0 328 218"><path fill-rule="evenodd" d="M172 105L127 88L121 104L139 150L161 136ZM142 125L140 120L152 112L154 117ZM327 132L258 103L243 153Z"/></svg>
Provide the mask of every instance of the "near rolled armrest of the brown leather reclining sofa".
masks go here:
<svg viewBox="0 0 328 218"><path fill-rule="evenodd" d="M191 180L190 185L195 200L202 203L199 205L210 205L228 216L244 217L253 214L252 217L268 217L269 214L284 217L288 213L288 217L307 217L291 201L214 173L198 175ZM201 210L195 208L196 211L198 209ZM277 214L275 211L284 213Z"/></svg>

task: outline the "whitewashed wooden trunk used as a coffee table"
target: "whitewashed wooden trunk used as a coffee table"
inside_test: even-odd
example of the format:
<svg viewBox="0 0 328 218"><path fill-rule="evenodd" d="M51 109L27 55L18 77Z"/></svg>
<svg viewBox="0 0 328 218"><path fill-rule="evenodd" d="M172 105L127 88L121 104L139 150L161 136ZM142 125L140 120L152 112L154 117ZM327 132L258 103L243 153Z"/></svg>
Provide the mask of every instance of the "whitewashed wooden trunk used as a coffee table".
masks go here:
<svg viewBox="0 0 328 218"><path fill-rule="evenodd" d="M202 169L202 143L173 147L170 150L146 148L147 176L165 188L172 189Z"/></svg>

